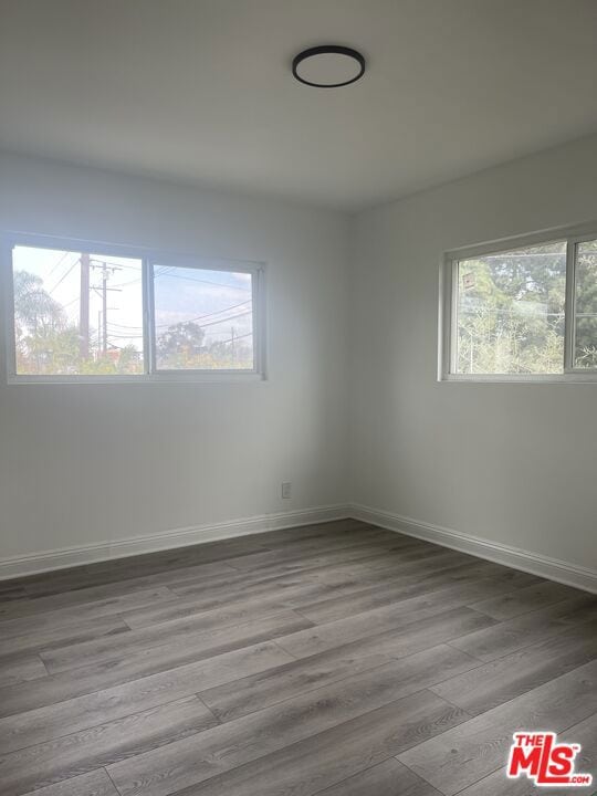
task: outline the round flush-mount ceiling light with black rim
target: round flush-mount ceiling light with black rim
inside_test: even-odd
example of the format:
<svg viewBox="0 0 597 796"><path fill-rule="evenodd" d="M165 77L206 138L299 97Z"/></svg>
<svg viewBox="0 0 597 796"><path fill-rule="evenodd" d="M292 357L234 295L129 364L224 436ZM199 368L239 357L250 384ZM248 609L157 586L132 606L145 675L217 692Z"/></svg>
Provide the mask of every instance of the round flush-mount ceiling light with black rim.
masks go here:
<svg viewBox="0 0 597 796"><path fill-rule="evenodd" d="M305 85L337 88L363 77L365 59L350 48L322 44L298 53L292 62L292 74Z"/></svg>

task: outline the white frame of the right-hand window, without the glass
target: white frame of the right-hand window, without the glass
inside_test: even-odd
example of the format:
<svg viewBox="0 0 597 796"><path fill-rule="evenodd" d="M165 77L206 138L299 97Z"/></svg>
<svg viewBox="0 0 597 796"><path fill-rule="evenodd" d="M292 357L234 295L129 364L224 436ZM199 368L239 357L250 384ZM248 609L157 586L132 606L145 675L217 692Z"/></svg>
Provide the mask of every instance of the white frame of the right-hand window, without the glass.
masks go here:
<svg viewBox="0 0 597 796"><path fill-rule="evenodd" d="M576 248L597 239L597 222L545 230L479 245L452 249L440 265L438 380L448 383L597 383L597 368L574 367L576 334ZM566 243L566 298L564 307L564 371L561 374L460 374L458 367L458 268L461 260L501 254L543 243Z"/></svg>

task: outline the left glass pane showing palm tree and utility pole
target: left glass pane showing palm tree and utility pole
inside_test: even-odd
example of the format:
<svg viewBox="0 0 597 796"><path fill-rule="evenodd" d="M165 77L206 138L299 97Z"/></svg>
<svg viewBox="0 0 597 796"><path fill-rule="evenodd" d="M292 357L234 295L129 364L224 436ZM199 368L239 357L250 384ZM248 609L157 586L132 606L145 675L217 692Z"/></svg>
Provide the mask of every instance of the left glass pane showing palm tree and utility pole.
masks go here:
<svg viewBox="0 0 597 796"><path fill-rule="evenodd" d="M14 247L20 375L144 373L142 261Z"/></svg>

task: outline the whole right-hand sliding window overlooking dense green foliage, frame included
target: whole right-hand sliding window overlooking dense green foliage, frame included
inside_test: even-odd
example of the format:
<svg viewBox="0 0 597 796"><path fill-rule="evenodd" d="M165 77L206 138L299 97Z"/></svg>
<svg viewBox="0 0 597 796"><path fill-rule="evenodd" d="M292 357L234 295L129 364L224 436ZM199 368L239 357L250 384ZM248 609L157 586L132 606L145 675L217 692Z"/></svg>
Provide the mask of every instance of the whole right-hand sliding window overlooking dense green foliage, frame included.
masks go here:
<svg viewBox="0 0 597 796"><path fill-rule="evenodd" d="M597 378L597 233L521 242L447 255L446 380Z"/></svg>

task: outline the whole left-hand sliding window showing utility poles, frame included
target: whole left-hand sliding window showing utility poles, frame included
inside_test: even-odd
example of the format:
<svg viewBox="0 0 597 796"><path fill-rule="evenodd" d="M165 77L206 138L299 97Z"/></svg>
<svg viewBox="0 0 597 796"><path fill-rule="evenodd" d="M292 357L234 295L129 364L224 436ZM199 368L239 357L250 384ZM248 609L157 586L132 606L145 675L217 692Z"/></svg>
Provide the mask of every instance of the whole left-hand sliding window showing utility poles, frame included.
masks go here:
<svg viewBox="0 0 597 796"><path fill-rule="evenodd" d="M263 375L263 266L18 239L8 248L9 378Z"/></svg>

